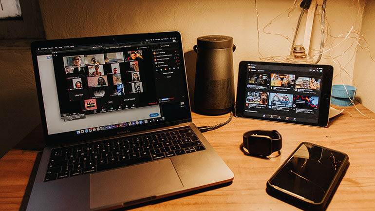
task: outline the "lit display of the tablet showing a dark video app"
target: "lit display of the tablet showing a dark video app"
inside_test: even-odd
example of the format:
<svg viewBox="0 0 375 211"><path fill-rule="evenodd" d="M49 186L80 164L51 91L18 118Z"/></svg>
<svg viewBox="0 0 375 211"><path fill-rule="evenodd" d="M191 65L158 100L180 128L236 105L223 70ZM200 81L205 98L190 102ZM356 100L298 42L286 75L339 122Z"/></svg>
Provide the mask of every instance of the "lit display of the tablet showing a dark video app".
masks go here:
<svg viewBox="0 0 375 211"><path fill-rule="evenodd" d="M247 64L244 115L317 123L323 71Z"/></svg>

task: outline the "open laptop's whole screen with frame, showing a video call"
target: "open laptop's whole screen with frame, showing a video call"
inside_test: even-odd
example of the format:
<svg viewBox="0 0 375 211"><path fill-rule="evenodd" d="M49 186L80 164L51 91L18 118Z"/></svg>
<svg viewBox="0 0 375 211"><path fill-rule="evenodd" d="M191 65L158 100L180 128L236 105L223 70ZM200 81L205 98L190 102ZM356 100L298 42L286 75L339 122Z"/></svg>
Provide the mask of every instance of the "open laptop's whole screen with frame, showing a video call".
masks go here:
<svg viewBox="0 0 375 211"><path fill-rule="evenodd" d="M119 134L190 118L177 32L48 40L32 51L48 135Z"/></svg>

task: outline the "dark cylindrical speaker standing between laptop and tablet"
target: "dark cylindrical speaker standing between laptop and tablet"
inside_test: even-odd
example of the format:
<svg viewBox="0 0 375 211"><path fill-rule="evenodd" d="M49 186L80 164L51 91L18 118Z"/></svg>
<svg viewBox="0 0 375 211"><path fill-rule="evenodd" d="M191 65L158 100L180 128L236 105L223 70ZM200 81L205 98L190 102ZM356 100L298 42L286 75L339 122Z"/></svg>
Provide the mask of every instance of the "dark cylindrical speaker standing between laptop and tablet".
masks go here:
<svg viewBox="0 0 375 211"><path fill-rule="evenodd" d="M222 115L233 110L233 38L210 35L197 38L194 108L205 115Z"/></svg>

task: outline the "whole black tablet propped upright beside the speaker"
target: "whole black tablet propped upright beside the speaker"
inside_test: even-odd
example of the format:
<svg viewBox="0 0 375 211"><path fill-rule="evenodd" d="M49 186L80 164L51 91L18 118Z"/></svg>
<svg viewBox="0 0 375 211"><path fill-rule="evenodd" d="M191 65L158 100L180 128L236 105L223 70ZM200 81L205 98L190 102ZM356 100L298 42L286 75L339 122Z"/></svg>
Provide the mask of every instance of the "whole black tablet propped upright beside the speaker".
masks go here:
<svg viewBox="0 0 375 211"><path fill-rule="evenodd" d="M326 127L333 67L241 61L236 116Z"/></svg>

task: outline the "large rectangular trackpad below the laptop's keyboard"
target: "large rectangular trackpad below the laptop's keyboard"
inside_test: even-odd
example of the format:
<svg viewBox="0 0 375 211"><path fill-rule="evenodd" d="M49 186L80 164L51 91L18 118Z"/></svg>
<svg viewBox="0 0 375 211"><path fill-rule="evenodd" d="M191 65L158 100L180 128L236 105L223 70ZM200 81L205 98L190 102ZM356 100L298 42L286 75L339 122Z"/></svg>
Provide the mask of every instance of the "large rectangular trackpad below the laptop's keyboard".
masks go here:
<svg viewBox="0 0 375 211"><path fill-rule="evenodd" d="M170 159L90 174L90 208L155 197L182 188Z"/></svg>

